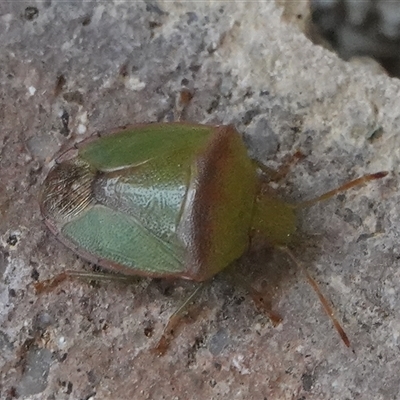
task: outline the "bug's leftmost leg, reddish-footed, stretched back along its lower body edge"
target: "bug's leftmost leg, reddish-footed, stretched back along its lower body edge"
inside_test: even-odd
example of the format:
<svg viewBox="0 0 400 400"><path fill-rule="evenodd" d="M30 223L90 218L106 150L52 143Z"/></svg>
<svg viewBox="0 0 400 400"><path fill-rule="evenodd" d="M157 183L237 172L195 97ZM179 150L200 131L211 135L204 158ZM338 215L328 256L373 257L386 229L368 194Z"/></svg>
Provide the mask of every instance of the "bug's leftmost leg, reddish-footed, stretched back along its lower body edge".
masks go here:
<svg viewBox="0 0 400 400"><path fill-rule="evenodd" d="M53 278L46 279L41 282L36 282L34 284L34 288L36 293L48 293L54 290L58 285L62 282L66 281L67 279L85 279L85 280L96 280L96 281L120 281L126 283L137 282L137 276L130 276L130 275L122 275L122 274L111 274L107 272L86 272L86 271L74 271L74 270L65 270L58 275L53 276Z"/></svg>

